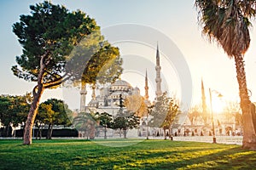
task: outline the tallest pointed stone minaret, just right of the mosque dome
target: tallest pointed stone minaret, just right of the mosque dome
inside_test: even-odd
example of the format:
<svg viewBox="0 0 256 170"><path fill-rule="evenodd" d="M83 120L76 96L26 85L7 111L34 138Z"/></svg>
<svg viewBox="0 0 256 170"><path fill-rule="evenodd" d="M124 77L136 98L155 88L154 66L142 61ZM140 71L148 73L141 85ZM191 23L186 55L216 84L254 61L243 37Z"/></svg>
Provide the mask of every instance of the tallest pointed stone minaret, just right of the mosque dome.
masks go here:
<svg viewBox="0 0 256 170"><path fill-rule="evenodd" d="M162 91L161 91L161 77L160 77L160 54L159 54L159 49L158 49L158 43L157 43L157 49L156 49L156 66L155 66L155 71L156 71L156 78L155 78L155 82L156 82L156 98L159 98L162 95Z"/></svg>

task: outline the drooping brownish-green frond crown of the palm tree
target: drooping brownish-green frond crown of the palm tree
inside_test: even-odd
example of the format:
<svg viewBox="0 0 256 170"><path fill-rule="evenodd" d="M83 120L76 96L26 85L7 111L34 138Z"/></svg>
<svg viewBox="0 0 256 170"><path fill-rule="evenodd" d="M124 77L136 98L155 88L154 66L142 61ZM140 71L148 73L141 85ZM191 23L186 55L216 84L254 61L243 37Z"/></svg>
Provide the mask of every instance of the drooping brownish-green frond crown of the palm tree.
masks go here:
<svg viewBox="0 0 256 170"><path fill-rule="evenodd" d="M245 54L250 44L249 21L256 14L255 1L195 0L203 33L218 42L230 56Z"/></svg>

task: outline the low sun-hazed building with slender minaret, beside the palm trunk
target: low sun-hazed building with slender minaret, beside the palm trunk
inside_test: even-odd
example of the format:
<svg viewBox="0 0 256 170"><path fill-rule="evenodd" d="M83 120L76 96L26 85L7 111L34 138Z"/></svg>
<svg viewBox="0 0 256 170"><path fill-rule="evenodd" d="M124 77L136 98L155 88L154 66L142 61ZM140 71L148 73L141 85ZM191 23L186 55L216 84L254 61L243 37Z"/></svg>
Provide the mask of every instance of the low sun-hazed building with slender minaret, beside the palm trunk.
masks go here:
<svg viewBox="0 0 256 170"><path fill-rule="evenodd" d="M173 128L177 135L212 135L212 114L207 111L205 89L201 80L202 111L196 116L187 115L183 124ZM236 111L237 112L237 111ZM241 121L236 112L224 111L213 115L215 135L242 135Z"/></svg>

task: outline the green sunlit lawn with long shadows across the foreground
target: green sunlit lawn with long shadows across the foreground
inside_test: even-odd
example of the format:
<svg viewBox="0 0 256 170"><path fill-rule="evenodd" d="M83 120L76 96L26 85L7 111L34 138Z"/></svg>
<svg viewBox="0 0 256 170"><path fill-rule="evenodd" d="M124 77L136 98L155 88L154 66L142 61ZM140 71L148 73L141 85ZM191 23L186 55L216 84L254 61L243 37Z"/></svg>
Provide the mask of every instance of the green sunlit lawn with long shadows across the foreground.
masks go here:
<svg viewBox="0 0 256 170"><path fill-rule="evenodd" d="M129 145L131 144L131 145ZM109 147L115 145L119 147ZM122 147L122 145L128 145ZM239 145L170 140L0 140L0 169L253 169Z"/></svg>

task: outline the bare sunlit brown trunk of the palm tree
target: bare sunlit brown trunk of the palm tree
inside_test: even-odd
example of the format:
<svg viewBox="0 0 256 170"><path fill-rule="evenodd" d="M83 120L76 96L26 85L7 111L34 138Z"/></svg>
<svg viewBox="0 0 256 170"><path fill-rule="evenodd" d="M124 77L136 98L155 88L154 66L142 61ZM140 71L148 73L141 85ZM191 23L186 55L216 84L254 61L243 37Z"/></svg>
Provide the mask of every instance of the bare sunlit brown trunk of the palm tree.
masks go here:
<svg viewBox="0 0 256 170"><path fill-rule="evenodd" d="M241 99L242 111L242 126L243 126L243 140L242 147L256 150L256 135L255 127L253 125L252 103L248 96L247 80L244 69L244 61L242 55L235 56L236 62L236 78L239 84L239 95Z"/></svg>

